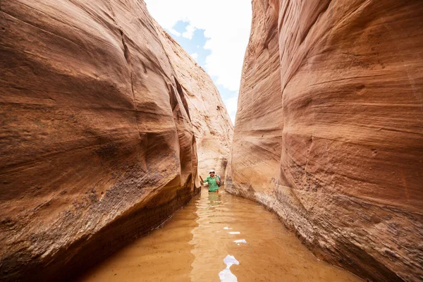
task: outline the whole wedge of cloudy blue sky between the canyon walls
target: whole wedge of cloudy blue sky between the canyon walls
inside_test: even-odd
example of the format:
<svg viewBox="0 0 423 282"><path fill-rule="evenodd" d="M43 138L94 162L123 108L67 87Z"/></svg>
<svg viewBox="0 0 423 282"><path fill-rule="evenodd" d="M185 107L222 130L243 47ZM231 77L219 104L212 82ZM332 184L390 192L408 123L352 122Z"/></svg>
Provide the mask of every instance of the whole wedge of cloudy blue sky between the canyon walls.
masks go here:
<svg viewBox="0 0 423 282"><path fill-rule="evenodd" d="M145 0L149 13L204 68L232 123L250 37L250 0Z"/></svg>

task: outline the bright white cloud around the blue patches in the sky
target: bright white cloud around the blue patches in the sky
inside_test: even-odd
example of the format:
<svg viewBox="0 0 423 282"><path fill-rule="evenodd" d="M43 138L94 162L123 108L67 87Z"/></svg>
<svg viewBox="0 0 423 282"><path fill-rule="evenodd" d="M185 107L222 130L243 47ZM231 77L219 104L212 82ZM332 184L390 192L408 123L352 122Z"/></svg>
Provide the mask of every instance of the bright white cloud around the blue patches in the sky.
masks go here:
<svg viewBox="0 0 423 282"><path fill-rule="evenodd" d="M195 29L204 30L207 42L205 69L216 78L215 83L238 91L245 48L250 36L251 3L247 0L146 0L147 8L157 22L167 30L179 20L188 22L184 37Z"/></svg>

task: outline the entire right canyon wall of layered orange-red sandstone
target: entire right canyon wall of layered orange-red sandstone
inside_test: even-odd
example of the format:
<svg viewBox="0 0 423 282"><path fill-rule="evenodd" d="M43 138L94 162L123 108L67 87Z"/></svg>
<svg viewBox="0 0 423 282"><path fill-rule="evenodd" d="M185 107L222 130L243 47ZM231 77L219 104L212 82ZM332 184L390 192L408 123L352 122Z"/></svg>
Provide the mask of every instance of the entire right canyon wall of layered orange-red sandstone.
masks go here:
<svg viewBox="0 0 423 282"><path fill-rule="evenodd" d="M226 189L319 257L423 276L423 5L252 1Z"/></svg>

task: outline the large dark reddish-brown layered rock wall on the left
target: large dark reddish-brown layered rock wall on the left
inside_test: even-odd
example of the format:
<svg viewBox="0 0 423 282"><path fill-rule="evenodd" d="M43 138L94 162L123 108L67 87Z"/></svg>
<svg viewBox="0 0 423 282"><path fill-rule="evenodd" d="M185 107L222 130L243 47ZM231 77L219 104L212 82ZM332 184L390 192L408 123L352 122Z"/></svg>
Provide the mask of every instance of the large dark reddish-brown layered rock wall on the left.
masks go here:
<svg viewBox="0 0 423 282"><path fill-rule="evenodd" d="M142 1L0 9L0 276L66 278L197 192L197 93Z"/></svg>

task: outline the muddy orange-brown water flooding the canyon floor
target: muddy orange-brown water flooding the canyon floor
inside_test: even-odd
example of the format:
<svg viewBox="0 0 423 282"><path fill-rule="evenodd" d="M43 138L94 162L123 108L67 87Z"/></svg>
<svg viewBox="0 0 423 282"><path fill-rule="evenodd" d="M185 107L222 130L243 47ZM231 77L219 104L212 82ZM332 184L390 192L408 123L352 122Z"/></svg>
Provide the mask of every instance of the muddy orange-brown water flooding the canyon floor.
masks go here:
<svg viewBox="0 0 423 282"><path fill-rule="evenodd" d="M361 281L320 262L264 207L202 194L80 281Z"/></svg>

